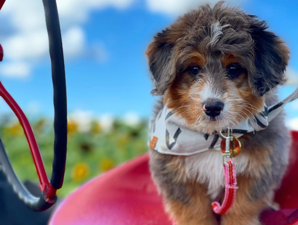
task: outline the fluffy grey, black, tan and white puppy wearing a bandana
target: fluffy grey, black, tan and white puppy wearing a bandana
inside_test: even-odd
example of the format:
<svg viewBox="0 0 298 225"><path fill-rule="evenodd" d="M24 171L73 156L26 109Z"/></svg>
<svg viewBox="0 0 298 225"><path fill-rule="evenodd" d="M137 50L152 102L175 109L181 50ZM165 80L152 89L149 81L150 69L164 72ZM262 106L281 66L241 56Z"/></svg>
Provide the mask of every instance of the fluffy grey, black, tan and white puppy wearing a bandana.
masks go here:
<svg viewBox="0 0 298 225"><path fill-rule="evenodd" d="M178 18L146 51L154 95L195 131L211 134L237 125L278 101L289 50L266 23L224 2ZM212 105L211 109L206 108ZM262 131L240 139L238 190L223 225L258 225L288 163L289 132L280 113ZM211 202L222 199L222 153L189 156L150 150L150 168L166 211L178 225L217 224Z"/></svg>

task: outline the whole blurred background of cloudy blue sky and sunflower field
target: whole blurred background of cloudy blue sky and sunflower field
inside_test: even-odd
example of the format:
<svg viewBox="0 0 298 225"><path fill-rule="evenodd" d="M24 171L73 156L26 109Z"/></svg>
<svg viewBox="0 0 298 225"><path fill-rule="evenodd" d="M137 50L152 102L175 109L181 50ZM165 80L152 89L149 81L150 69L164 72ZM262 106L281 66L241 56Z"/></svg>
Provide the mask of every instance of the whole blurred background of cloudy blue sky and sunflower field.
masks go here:
<svg viewBox="0 0 298 225"><path fill-rule="evenodd" d="M217 1L209 1L213 5ZM298 1L235 0L268 21L291 60L281 98L298 85ZM147 152L154 97L144 51L158 31L200 0L57 0L68 91L64 198L90 178ZM53 97L42 1L7 0L0 11L0 79L27 114L48 174L53 157ZM286 106L298 129L298 102ZM0 100L0 136L21 180L38 181L22 128Z"/></svg>

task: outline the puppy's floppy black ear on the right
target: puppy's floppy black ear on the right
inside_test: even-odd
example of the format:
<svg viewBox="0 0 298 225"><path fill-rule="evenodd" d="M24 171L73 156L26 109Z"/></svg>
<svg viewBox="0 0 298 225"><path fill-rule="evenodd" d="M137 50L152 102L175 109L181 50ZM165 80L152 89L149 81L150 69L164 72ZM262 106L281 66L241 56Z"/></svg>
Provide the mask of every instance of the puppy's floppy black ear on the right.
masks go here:
<svg viewBox="0 0 298 225"><path fill-rule="evenodd" d="M255 70L250 74L253 94L263 96L285 81L289 49L274 33L267 31L264 21L254 20L251 36L255 41Z"/></svg>

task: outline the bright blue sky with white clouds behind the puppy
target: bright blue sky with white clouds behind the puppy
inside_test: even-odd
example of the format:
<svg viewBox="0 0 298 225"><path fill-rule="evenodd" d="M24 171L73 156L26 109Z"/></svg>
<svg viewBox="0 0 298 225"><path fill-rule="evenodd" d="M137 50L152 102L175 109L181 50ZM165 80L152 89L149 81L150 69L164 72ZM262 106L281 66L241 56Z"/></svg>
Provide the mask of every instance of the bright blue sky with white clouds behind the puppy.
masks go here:
<svg viewBox="0 0 298 225"><path fill-rule="evenodd" d="M57 0L69 113L149 116L154 98L144 51L155 33L202 1L181 2ZM232 3L266 20L270 30L286 41L291 50L288 73L298 86L298 1ZM7 0L0 11L0 19L5 21L0 24L0 44L5 51L0 79L26 112L51 116L52 84L42 4L35 0L22 4L22 0ZM281 96L294 88L282 87ZM3 102L0 106L0 113L8 111ZM287 106L287 112L289 118L295 118L298 102Z"/></svg>

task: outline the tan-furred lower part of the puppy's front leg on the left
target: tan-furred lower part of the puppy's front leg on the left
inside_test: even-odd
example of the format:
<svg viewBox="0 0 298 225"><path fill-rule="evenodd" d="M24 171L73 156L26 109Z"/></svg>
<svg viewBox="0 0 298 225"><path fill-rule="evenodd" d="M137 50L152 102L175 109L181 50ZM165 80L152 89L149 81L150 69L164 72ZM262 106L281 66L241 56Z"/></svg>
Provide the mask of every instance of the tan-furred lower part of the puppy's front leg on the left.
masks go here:
<svg viewBox="0 0 298 225"><path fill-rule="evenodd" d="M213 225L217 224L211 209L211 201L206 188L196 182L187 185L187 201L177 201L165 197L165 206L177 225Z"/></svg>

